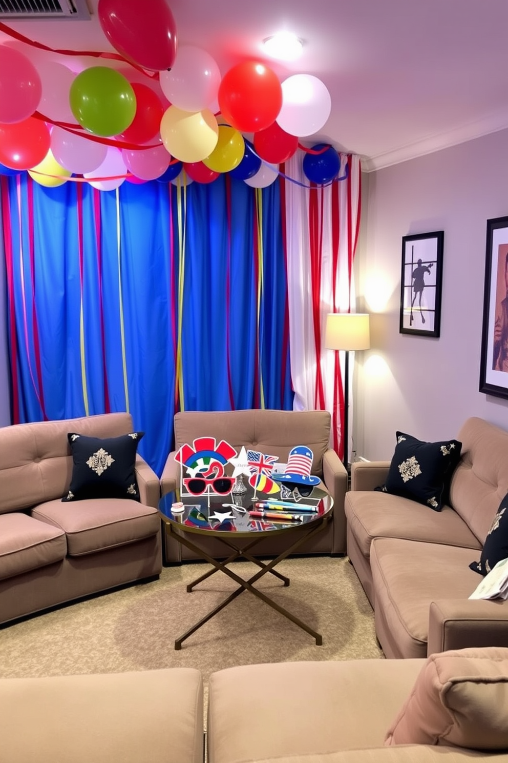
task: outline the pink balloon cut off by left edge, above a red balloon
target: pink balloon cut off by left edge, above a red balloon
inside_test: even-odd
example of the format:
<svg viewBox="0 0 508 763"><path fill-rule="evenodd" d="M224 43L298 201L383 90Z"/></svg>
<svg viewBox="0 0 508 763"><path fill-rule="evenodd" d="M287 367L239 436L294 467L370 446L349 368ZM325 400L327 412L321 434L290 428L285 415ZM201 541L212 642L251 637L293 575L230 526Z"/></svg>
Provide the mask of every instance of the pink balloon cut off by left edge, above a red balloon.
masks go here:
<svg viewBox="0 0 508 763"><path fill-rule="evenodd" d="M0 122L14 124L31 117L42 92L40 76L27 56L0 45Z"/></svg>

